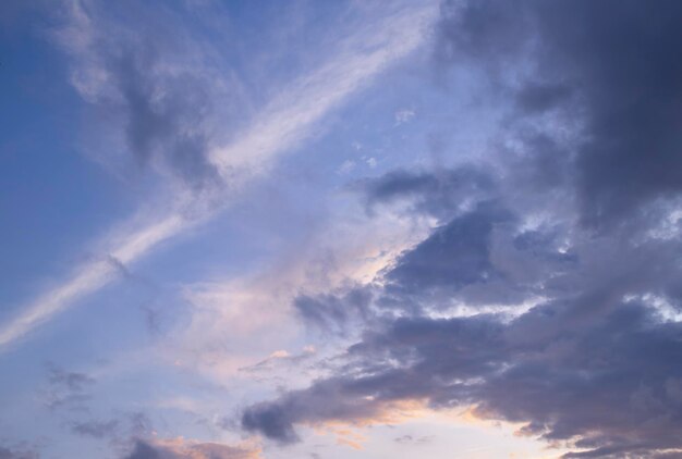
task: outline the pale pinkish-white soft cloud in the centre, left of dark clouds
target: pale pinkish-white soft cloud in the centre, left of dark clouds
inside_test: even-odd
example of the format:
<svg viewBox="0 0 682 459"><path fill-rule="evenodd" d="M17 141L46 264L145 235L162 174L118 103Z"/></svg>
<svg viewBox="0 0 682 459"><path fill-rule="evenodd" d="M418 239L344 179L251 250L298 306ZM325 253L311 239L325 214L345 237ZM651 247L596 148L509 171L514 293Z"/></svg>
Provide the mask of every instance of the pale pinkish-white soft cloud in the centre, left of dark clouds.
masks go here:
<svg viewBox="0 0 682 459"><path fill-rule="evenodd" d="M339 218L349 215L344 207L339 212ZM325 222L299 244L288 246L265 270L187 285L184 297L192 308L190 321L169 333L160 343L159 351L169 362L188 365L194 372L224 384L232 376L260 380L263 374L245 370L265 370L253 365L263 362L273 349L292 351L304 345L300 342L301 327L293 312L300 317L309 312L306 322L322 332L319 335L325 337L319 343L321 347L333 345L326 339L330 332L334 336L353 332L354 324L367 319L362 305L353 312L339 311L339 308L343 308L343 301L368 301L372 289L349 294L341 301L336 301L333 295L319 294L337 289L344 293L344 285L360 285L370 280L386 259L392 258L405 240L414 238L411 235L415 231L400 219L361 219L348 225L336 225L334 221L336 218ZM329 311L318 310L317 306L327 300L337 303L330 303ZM334 310L344 314L345 323L326 318ZM226 334L226 330L230 333ZM254 335L260 339L249 339ZM306 339L305 344L310 342ZM324 353L321 347L318 350ZM294 360L293 356L270 359L269 363L278 364L268 376L287 372L281 382L288 384L302 376L307 380L309 372L294 364L297 363ZM301 363L307 365L303 360ZM264 367L270 369L271 365ZM249 389L253 385L239 383L235 390Z"/></svg>

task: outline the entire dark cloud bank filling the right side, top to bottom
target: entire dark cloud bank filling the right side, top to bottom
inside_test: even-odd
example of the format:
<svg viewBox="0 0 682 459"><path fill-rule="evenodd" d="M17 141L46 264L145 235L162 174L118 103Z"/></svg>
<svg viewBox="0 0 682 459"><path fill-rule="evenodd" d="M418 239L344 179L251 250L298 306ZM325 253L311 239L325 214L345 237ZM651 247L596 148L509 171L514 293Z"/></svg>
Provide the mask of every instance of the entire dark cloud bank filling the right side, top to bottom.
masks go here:
<svg viewBox="0 0 682 459"><path fill-rule="evenodd" d="M374 282L295 301L362 337L242 426L291 443L414 401L565 457L679 455L681 21L674 1L443 3L437 65L484 75L508 113L494 161L358 184L368 211L435 228Z"/></svg>

